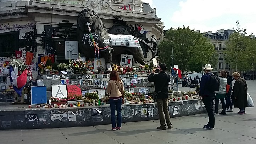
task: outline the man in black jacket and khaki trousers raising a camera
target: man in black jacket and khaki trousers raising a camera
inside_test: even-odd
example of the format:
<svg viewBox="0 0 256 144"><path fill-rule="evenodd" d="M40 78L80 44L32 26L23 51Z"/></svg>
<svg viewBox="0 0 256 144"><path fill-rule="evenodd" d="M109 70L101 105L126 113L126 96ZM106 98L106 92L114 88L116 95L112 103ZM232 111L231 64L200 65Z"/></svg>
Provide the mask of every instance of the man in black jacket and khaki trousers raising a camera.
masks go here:
<svg viewBox="0 0 256 144"><path fill-rule="evenodd" d="M168 86L169 82L171 81L171 77L165 73L165 70L166 64L161 63L160 72L158 74L154 74L155 70L153 70L148 77L149 82L154 82L155 92L159 92L157 95L156 104L160 119L160 126L156 128L161 130L166 129L165 121L168 129L172 129L171 118L168 110Z"/></svg>

